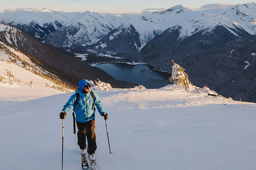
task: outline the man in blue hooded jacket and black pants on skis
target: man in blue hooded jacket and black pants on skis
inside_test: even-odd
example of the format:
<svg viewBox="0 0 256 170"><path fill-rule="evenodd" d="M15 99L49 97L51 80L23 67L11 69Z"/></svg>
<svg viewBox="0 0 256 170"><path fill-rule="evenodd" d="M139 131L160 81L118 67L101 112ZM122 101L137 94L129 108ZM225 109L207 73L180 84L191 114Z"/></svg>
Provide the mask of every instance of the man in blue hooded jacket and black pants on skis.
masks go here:
<svg viewBox="0 0 256 170"><path fill-rule="evenodd" d="M68 102L64 105L62 112L60 113L60 119L64 119L71 107L74 107L76 115L77 125L77 144L80 147L82 156L82 167L88 169L88 162L86 159L86 152L89 154L90 163L92 169L98 169L95 162L95 151L96 151L96 135L95 129L95 108L96 105L98 112L105 120L108 119L108 114L105 113L99 96L95 91L91 91L90 87L92 84L86 79L81 80L78 83L79 88L76 93L79 94L79 100L75 105L76 93L73 94ZM94 97L93 97L94 96ZM86 138L88 147L86 148Z"/></svg>

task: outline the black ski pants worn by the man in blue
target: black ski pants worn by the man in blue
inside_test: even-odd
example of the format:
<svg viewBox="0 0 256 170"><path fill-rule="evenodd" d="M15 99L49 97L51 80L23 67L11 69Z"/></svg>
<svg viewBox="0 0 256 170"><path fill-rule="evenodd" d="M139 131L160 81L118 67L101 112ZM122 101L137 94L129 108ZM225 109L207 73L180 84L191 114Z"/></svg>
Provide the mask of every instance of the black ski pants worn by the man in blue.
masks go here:
<svg viewBox="0 0 256 170"><path fill-rule="evenodd" d="M86 148L86 138L88 143L88 154L93 154L96 149L96 135L94 132L95 129L95 119L90 120L88 122L77 122L77 144L79 145L80 149Z"/></svg>

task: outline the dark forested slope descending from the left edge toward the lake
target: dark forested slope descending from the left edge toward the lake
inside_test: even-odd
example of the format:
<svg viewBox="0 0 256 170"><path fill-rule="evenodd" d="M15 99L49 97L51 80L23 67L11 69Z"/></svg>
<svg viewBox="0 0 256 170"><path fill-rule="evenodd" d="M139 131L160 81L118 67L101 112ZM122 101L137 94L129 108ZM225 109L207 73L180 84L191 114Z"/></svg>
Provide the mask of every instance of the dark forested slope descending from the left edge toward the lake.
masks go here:
<svg viewBox="0 0 256 170"><path fill-rule="evenodd" d="M112 87L119 88L133 87L135 85L117 81L109 74L96 67L89 66L76 58L65 55L13 26L8 27L10 29L0 31L0 41L16 47L18 50L28 55L38 66L56 75L61 80L69 82L72 85L77 85L81 79L99 79L102 82L110 83Z"/></svg>

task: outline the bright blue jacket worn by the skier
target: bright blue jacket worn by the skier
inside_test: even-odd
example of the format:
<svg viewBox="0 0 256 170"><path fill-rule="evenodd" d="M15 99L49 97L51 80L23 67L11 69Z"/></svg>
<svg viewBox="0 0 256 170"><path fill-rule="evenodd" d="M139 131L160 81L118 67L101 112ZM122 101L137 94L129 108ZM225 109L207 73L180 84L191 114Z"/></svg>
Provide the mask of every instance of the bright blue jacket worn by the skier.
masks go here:
<svg viewBox="0 0 256 170"><path fill-rule="evenodd" d="M79 86L80 87L80 86ZM93 109L93 97L91 97L90 92L91 90L85 94L83 91L81 92L80 88L76 90L79 93L79 100L78 104L75 105L74 111L76 115L76 121L78 122L88 122L95 118L94 109ZM98 112L102 116L105 113L103 106L100 102L99 96L93 91L94 94L94 104L96 105ZM70 111L71 107L74 107L76 99L76 93L74 93L68 100L68 102L64 105L62 111L68 112Z"/></svg>

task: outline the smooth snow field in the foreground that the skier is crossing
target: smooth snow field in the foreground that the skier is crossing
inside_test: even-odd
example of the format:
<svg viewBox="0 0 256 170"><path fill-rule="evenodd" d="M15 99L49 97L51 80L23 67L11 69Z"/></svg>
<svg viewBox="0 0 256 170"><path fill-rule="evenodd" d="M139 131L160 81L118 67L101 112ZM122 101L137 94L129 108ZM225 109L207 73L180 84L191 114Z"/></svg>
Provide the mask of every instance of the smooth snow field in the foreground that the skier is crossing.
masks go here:
<svg viewBox="0 0 256 170"><path fill-rule="evenodd" d="M255 103L208 96L205 89L185 90L177 85L96 91L109 114L113 152L109 154L105 122L96 111L100 170L255 169ZM0 101L1 170L61 168L59 112L72 94ZM71 112L64 120L64 132L63 169L81 170Z"/></svg>

